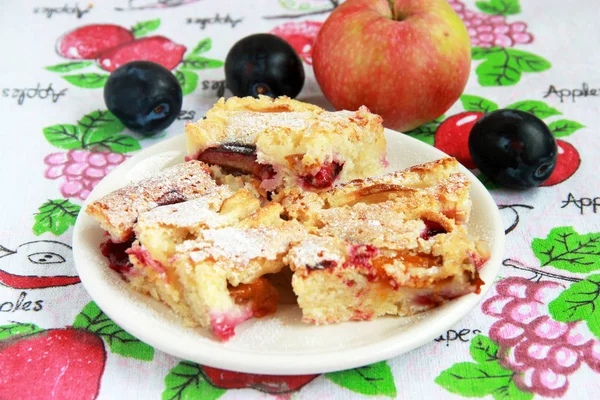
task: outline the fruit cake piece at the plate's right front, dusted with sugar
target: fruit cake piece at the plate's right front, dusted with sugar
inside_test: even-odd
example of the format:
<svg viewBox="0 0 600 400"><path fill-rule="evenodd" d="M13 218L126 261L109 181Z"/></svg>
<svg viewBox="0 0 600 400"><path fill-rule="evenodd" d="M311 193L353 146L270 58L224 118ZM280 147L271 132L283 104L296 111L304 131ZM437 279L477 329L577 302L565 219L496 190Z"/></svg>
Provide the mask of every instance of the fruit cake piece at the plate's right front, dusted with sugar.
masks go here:
<svg viewBox="0 0 600 400"><path fill-rule="evenodd" d="M277 200L311 231L286 262L303 321L409 316L476 293L489 257L469 238L469 181L446 159Z"/></svg>

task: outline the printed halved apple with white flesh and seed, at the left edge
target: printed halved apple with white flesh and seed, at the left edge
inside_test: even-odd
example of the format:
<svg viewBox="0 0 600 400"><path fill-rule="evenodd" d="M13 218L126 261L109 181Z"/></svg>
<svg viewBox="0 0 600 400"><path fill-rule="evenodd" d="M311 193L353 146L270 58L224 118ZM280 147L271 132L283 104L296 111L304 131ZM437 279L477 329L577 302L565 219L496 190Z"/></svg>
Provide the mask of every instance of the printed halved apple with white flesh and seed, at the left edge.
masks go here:
<svg viewBox="0 0 600 400"><path fill-rule="evenodd" d="M0 285L13 289L43 289L79 283L71 246L36 240L14 250L0 245Z"/></svg>

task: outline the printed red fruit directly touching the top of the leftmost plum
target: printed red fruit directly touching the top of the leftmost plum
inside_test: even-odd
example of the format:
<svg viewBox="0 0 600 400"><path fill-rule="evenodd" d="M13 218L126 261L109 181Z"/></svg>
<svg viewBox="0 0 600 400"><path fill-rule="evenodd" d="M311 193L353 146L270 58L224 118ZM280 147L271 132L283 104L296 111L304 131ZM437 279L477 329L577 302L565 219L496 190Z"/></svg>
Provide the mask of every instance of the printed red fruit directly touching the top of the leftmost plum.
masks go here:
<svg viewBox="0 0 600 400"><path fill-rule="evenodd" d="M149 36L103 51L98 57L98 63L108 72L130 61L139 60L153 61L171 70L181 62L185 50L185 46L164 36Z"/></svg>

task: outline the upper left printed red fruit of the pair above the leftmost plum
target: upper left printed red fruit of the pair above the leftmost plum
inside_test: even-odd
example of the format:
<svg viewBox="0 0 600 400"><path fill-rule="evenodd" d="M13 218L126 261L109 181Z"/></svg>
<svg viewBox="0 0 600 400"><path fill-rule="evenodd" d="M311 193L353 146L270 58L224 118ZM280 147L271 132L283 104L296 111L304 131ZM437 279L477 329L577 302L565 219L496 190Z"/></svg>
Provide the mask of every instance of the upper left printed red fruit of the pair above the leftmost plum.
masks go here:
<svg viewBox="0 0 600 400"><path fill-rule="evenodd" d="M118 25L94 24L77 28L58 39L57 51L66 58L93 60L102 51L133 40L133 34Z"/></svg>

